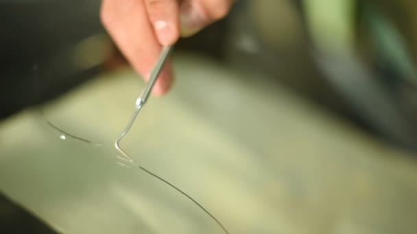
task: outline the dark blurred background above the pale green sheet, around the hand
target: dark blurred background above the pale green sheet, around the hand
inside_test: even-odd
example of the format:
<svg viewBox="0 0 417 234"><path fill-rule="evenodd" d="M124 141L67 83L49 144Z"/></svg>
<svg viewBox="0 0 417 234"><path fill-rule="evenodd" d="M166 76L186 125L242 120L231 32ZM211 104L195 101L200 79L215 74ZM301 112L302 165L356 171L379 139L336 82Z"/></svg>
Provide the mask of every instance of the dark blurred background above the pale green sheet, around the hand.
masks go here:
<svg viewBox="0 0 417 234"><path fill-rule="evenodd" d="M99 4L0 3L0 119L107 68L118 53L99 22ZM414 152L416 9L407 0L242 0L223 21L180 40L178 49L265 73L375 138ZM0 204L0 217L8 210Z"/></svg>

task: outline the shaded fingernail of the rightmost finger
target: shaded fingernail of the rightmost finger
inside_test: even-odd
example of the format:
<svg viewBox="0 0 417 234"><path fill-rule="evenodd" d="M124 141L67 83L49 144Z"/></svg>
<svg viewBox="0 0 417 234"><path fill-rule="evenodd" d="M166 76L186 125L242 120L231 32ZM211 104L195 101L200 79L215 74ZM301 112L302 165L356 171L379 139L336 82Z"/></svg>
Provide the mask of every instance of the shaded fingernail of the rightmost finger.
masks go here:
<svg viewBox="0 0 417 234"><path fill-rule="evenodd" d="M181 36L188 37L200 31L204 26L203 16L195 4L184 4L181 6Z"/></svg>

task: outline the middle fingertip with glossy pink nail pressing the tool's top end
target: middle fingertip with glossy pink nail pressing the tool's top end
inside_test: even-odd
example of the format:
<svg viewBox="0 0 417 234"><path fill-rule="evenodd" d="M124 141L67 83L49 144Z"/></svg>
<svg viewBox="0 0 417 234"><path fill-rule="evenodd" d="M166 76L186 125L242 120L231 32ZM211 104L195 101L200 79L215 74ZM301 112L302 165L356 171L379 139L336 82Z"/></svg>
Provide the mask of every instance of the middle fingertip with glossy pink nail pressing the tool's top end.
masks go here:
<svg viewBox="0 0 417 234"><path fill-rule="evenodd" d="M180 9L177 0L145 0L147 14L160 44L174 44L180 37Z"/></svg>

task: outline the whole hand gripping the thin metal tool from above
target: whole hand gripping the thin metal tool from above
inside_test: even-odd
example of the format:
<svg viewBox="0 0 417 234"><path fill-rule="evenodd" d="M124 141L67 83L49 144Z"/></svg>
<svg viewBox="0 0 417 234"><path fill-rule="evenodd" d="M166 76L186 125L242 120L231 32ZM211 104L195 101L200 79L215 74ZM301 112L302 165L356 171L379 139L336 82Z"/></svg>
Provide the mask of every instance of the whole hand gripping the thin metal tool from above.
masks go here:
<svg viewBox="0 0 417 234"><path fill-rule="evenodd" d="M104 27L145 80L162 46L174 44L226 16L233 0L103 0ZM167 62L152 91L161 96L174 76Z"/></svg>

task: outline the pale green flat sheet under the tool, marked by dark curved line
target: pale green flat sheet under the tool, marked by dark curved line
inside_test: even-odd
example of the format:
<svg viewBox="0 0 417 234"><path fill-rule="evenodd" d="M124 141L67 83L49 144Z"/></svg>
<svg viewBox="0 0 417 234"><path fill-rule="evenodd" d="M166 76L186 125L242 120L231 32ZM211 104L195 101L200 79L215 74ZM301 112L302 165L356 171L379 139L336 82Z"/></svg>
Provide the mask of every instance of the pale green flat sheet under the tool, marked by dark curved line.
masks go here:
<svg viewBox="0 0 417 234"><path fill-rule="evenodd" d="M176 56L182 79L167 98L150 99L123 140L138 164L230 233L417 230L413 219L393 219L417 215L414 160L257 83L260 75L195 56ZM64 233L222 233L176 190L117 164L112 143L141 83L121 70L43 107L62 129L103 146L62 140L38 109L3 122L1 190Z"/></svg>

